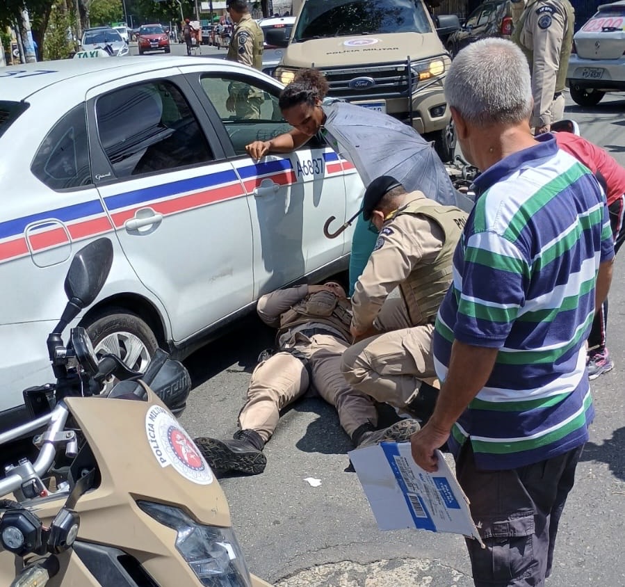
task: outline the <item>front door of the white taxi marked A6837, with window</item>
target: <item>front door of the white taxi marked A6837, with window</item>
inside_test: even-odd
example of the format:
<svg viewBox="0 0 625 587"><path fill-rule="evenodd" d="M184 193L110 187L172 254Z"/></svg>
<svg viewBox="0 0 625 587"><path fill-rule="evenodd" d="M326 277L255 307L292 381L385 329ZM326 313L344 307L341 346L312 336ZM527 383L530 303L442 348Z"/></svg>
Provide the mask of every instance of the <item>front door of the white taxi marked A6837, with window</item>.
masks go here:
<svg viewBox="0 0 625 587"><path fill-rule="evenodd" d="M243 89L253 98L252 108L229 111L229 88L243 82L249 88ZM323 235L325 220L336 216L340 224L346 211L343 169L336 153L310 141L293 153L268 154L254 161L245 145L292 129L278 107L279 86L234 73L201 75L200 86L229 136L245 191L253 195L254 296L341 257L345 237L330 240Z"/></svg>

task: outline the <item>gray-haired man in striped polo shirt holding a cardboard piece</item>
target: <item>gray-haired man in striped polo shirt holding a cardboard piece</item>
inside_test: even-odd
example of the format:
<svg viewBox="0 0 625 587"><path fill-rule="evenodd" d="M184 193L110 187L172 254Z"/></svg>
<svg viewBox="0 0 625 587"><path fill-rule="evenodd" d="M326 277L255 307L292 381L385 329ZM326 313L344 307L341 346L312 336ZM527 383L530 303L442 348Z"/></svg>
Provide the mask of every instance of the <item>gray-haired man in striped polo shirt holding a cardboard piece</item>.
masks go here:
<svg viewBox="0 0 625 587"><path fill-rule="evenodd" d="M412 454L433 472L448 440L487 546L466 541L476 586L538 587L594 416L585 340L612 275L605 195L553 135L532 136L513 43L460 51L445 94L482 175L435 326L441 392Z"/></svg>

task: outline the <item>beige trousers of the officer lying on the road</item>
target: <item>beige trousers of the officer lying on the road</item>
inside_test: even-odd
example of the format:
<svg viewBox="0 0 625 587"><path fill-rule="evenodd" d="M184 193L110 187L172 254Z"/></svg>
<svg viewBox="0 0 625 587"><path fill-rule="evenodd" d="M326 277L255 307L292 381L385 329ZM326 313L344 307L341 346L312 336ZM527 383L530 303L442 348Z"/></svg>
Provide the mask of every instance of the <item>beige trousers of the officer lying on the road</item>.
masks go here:
<svg viewBox="0 0 625 587"><path fill-rule="evenodd" d="M352 389L341 375L341 355L348 344L330 335L314 335L307 341L298 344L296 350L308 365L291 353L280 352L254 369L247 401L238 417L242 430L255 430L267 442L278 424L279 411L309 388L336 407L341 426L350 437L367 421L378 424L371 398Z"/></svg>

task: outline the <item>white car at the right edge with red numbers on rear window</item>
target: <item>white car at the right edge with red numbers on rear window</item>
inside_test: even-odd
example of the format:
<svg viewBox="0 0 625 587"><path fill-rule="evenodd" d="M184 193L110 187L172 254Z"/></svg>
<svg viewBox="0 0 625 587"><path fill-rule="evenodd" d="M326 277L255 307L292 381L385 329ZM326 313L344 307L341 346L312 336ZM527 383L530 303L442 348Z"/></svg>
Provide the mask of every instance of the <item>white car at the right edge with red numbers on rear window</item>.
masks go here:
<svg viewBox="0 0 625 587"><path fill-rule="evenodd" d="M599 6L573 41L567 86L576 104L596 106L606 92L625 91L625 1Z"/></svg>

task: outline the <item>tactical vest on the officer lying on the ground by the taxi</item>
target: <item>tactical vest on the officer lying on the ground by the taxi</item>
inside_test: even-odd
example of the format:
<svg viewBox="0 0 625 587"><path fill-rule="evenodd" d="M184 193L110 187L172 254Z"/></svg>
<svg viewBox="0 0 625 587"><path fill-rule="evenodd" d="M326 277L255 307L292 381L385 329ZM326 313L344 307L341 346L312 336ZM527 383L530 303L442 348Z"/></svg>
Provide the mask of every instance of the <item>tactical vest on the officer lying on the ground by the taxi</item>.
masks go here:
<svg viewBox="0 0 625 587"><path fill-rule="evenodd" d="M323 307L317 308L315 304L315 296L323 296ZM334 298L334 307L327 305L327 294ZM327 324L332 326L334 330L338 330L346 340L351 340L350 324L352 323L352 309L348 300L340 300L331 292L320 291L316 294L310 294L287 310L280 316L280 328L278 330L277 339L284 333L300 324L314 322L315 324Z"/></svg>

